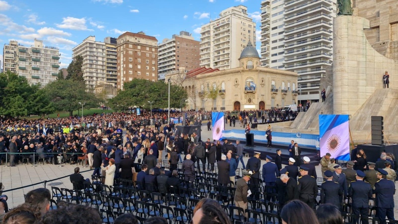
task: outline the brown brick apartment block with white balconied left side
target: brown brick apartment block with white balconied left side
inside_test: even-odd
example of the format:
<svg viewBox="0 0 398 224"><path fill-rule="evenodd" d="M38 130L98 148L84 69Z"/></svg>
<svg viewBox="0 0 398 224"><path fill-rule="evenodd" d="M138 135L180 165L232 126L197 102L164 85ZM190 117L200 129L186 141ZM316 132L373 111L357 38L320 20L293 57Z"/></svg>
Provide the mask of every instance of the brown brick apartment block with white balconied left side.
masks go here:
<svg viewBox="0 0 398 224"><path fill-rule="evenodd" d="M158 80L164 80L166 74L179 71L180 67L185 70L199 68L199 41L186 31L159 43Z"/></svg>

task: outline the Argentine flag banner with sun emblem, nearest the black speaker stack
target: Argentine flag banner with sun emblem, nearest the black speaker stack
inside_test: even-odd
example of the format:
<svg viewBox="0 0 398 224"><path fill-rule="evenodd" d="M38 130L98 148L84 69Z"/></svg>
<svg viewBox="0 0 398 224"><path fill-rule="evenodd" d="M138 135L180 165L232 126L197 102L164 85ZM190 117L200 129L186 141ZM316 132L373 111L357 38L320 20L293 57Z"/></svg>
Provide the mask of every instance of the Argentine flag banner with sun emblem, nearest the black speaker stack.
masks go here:
<svg viewBox="0 0 398 224"><path fill-rule="evenodd" d="M330 153L331 158L350 160L349 117L346 114L320 114L320 156Z"/></svg>

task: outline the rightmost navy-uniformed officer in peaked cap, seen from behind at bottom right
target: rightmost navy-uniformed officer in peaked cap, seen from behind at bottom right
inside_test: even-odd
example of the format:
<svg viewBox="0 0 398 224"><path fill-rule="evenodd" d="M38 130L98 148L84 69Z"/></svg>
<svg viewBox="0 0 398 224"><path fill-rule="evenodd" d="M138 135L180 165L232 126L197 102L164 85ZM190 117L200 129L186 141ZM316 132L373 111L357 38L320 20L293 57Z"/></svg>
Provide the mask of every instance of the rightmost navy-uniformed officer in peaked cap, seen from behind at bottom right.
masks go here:
<svg viewBox="0 0 398 224"><path fill-rule="evenodd" d="M376 194L376 217L379 218L382 223L386 223L386 216L388 219L394 220L395 184L393 181L386 179L389 174L387 171L381 168L377 171L377 178L380 180L376 182L373 188L373 193Z"/></svg>

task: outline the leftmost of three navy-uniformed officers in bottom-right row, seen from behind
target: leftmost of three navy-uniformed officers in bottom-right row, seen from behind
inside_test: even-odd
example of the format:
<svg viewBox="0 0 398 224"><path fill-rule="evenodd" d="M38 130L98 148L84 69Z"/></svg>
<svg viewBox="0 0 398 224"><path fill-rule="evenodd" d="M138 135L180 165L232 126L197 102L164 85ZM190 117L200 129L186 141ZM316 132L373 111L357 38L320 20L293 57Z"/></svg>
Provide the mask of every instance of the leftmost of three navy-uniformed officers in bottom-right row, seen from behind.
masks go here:
<svg viewBox="0 0 398 224"><path fill-rule="evenodd" d="M332 204L341 211L341 202L339 198L343 195L339 183L333 181L333 173L330 170L326 170L324 173L326 181L320 186L320 203L321 204Z"/></svg>

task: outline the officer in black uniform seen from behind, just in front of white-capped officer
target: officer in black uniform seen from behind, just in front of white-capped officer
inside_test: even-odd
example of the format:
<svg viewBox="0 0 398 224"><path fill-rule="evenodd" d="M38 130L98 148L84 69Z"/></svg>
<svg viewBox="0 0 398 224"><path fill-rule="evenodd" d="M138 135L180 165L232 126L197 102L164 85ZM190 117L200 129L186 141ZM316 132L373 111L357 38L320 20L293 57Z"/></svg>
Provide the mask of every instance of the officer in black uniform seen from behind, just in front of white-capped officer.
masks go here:
<svg viewBox="0 0 398 224"><path fill-rule="evenodd" d="M308 168L300 167L301 177L298 178L298 199L314 209L315 199L318 195L316 179L308 175Z"/></svg>

